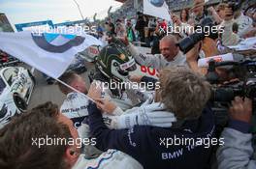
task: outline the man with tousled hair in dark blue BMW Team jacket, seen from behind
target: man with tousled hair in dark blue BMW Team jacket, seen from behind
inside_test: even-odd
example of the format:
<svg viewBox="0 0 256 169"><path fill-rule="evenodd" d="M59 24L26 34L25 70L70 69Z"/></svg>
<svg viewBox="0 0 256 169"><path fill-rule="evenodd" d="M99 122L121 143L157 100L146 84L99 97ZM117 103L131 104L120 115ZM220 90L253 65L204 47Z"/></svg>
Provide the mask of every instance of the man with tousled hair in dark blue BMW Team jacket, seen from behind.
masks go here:
<svg viewBox="0 0 256 169"><path fill-rule="evenodd" d="M203 76L183 67L162 70L159 81L161 88L155 100L159 101L158 106L164 105L175 114L176 123L166 128L135 126L111 130L104 125L97 108L103 107L104 101L97 105L90 102L89 127L97 139L96 147L122 151L146 169L205 168L211 153L209 140L214 139L215 130L213 114L206 106L210 85Z"/></svg>

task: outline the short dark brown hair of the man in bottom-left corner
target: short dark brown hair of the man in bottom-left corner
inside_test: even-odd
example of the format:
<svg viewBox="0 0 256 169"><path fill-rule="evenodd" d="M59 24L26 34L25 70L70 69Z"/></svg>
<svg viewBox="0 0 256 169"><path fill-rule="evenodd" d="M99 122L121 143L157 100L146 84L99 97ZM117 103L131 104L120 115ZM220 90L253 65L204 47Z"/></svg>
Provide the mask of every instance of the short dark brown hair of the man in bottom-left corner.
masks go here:
<svg viewBox="0 0 256 169"><path fill-rule="evenodd" d="M64 160L68 145L47 145L39 148L35 139L71 138L69 127L57 122L58 106L51 102L12 119L0 129L1 169L67 169ZM34 140L34 141L33 141ZM37 144L38 144L37 140Z"/></svg>

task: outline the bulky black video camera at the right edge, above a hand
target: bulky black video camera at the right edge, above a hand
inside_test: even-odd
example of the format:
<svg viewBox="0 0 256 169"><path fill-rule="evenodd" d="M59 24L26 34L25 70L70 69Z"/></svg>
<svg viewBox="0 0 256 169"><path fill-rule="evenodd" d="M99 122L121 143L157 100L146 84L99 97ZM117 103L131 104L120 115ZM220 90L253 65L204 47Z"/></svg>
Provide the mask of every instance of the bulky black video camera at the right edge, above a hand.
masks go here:
<svg viewBox="0 0 256 169"><path fill-rule="evenodd" d="M219 76L216 68L234 66L239 81L219 86ZM228 103L235 97L246 97L253 100L253 107L256 107L256 60L247 59L242 62L209 61L207 80L212 84L212 101Z"/></svg>

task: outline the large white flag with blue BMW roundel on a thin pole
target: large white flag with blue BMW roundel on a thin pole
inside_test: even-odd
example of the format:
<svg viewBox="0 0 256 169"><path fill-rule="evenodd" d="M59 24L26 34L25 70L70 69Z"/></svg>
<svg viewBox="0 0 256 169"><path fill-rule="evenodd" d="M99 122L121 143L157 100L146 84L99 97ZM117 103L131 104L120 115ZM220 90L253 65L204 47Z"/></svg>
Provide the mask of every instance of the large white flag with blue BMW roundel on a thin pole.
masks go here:
<svg viewBox="0 0 256 169"><path fill-rule="evenodd" d="M1 50L53 78L68 69L78 52L93 44L102 42L86 34L0 33Z"/></svg>

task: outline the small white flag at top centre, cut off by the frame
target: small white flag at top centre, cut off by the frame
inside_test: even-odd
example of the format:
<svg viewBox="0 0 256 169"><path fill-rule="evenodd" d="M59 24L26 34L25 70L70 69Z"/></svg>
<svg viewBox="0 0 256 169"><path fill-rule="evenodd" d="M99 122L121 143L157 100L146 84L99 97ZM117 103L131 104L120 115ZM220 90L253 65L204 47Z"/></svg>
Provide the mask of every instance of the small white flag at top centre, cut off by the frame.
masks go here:
<svg viewBox="0 0 256 169"><path fill-rule="evenodd" d="M144 14L160 17L168 21L171 20L165 0L144 0Z"/></svg>

